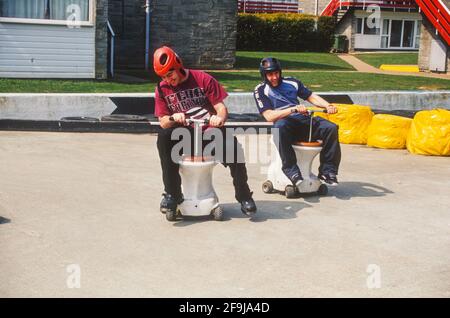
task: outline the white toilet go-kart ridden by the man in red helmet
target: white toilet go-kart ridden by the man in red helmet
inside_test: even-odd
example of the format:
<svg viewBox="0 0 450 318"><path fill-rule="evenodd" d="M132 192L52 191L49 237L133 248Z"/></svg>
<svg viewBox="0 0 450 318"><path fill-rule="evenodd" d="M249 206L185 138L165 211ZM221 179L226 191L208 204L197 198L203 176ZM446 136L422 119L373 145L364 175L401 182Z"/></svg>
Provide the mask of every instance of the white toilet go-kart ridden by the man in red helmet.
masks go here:
<svg viewBox="0 0 450 318"><path fill-rule="evenodd" d="M173 118L171 118L173 120ZM166 212L168 221L175 221L181 216L212 215L214 220L223 220L223 208L214 190L212 174L217 162L212 157L202 154L202 126L207 119L186 119L194 124L194 156L183 156L180 165L181 186L184 200L177 211Z"/></svg>

